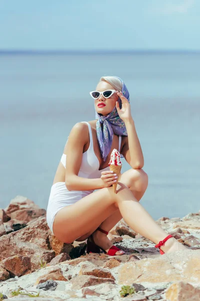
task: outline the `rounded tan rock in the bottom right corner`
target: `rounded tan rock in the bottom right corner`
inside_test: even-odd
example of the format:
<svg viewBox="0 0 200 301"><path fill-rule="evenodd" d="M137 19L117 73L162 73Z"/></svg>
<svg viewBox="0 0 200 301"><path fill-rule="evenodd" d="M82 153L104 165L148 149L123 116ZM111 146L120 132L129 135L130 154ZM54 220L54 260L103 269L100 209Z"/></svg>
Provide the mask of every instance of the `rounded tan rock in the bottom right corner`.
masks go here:
<svg viewBox="0 0 200 301"><path fill-rule="evenodd" d="M199 301L200 289L189 283L179 281L172 283L167 288L165 296L168 301Z"/></svg>

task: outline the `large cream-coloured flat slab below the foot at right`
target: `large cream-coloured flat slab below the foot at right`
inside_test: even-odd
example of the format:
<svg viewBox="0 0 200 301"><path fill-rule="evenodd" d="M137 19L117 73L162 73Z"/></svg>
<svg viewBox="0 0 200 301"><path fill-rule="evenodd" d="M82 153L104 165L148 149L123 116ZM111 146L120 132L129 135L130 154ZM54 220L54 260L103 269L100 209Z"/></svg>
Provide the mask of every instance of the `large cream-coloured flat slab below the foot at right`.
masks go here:
<svg viewBox="0 0 200 301"><path fill-rule="evenodd" d="M119 284L132 282L200 281L200 250L181 250L156 258L127 262L118 269Z"/></svg>

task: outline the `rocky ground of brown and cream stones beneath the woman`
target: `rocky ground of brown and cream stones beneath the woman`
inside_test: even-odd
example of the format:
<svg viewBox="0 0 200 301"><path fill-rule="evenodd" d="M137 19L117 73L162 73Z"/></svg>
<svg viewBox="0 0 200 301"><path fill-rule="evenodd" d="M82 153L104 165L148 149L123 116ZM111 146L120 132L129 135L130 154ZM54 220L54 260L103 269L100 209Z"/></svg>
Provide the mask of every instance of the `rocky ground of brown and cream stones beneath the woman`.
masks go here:
<svg viewBox="0 0 200 301"><path fill-rule="evenodd" d="M157 221L188 246L164 255L121 220L108 237L122 256L58 241L45 213L20 196L0 209L0 301L200 300L200 212Z"/></svg>

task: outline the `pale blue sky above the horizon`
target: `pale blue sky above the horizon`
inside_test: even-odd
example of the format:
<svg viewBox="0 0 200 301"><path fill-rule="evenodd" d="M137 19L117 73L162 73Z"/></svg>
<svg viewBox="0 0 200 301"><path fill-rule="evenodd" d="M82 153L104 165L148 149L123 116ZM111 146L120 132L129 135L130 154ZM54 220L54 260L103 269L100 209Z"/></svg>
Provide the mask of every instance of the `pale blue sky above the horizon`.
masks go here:
<svg viewBox="0 0 200 301"><path fill-rule="evenodd" d="M0 0L0 50L200 50L200 0Z"/></svg>

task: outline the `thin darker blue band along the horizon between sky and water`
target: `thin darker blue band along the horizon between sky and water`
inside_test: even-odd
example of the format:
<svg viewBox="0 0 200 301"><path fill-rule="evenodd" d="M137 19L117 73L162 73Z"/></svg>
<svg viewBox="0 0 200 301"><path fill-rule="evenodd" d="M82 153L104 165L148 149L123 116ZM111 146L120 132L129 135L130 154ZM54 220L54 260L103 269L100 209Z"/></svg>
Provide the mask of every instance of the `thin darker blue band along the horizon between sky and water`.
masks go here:
<svg viewBox="0 0 200 301"><path fill-rule="evenodd" d="M0 49L2 54L199 54L199 50L187 49L132 49L132 50L34 50L34 49Z"/></svg>

